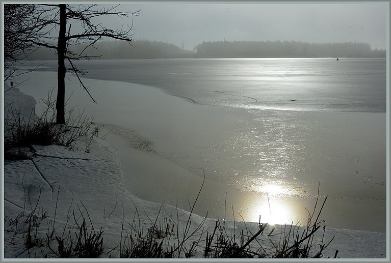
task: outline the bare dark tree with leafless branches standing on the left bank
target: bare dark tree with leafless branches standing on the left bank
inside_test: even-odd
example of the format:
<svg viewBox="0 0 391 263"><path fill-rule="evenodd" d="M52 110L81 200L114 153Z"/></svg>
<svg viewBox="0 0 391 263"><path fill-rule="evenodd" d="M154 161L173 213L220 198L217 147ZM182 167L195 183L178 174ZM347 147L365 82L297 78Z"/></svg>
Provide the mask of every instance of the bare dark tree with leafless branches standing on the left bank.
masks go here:
<svg viewBox="0 0 391 263"><path fill-rule="evenodd" d="M106 9L99 8L98 5L70 6L65 4L39 5L35 7L35 18L41 22L44 21L44 27L39 31L39 38L26 39L25 42L56 51L58 56L56 122L58 124L65 124L65 75L67 71L72 71L76 74L81 85L91 97L88 88L80 78L85 71L78 69L74 65L74 61L81 59L88 60L94 57L89 56L85 51L90 46L94 47L94 44L102 38L123 40L129 44L132 41L133 21L131 25L127 25L126 29L121 27L117 30L108 29L99 22L101 16L115 15L128 17L138 16L140 14L140 10L136 12L119 12L117 8L118 6ZM72 23L76 23L75 33L71 31ZM87 45L79 53L72 52L69 49L70 46L80 44ZM66 68L66 60L69 62L70 68ZM95 102L92 97L91 99Z"/></svg>

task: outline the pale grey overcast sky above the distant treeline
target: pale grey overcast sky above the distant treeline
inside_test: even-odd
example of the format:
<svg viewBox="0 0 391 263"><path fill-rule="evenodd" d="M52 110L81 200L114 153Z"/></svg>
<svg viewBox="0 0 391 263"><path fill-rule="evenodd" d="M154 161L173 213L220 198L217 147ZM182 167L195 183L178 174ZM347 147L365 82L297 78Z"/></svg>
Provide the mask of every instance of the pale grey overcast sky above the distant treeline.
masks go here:
<svg viewBox="0 0 391 263"><path fill-rule="evenodd" d="M203 41L367 42L386 49L388 2L167 2L121 4L137 11L134 37L193 49ZM285 2L286 3L286 2ZM122 18L118 24L129 24Z"/></svg>

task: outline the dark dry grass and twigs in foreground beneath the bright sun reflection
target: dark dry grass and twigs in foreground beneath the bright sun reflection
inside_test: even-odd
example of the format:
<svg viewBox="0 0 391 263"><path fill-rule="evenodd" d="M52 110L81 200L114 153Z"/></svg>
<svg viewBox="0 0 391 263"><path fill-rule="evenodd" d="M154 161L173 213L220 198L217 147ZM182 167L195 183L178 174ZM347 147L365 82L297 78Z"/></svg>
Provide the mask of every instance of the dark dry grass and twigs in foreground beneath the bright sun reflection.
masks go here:
<svg viewBox="0 0 391 263"><path fill-rule="evenodd" d="M196 247L203 247L204 258L321 258L324 249L333 240L324 243L322 238L320 245L318 241L315 242L314 240L315 233L322 229L321 226L324 223L319 221L319 217L326 199L327 197L315 218L317 198L314 212L308 213L305 229L293 224L284 225L280 232L273 234L275 230L273 228L267 235L263 235L263 233L266 232L269 225L260 222L258 223L258 231L255 233L252 233L247 227L246 231L242 230L238 235L236 229L233 233L229 233L225 227L225 220L223 223L217 220L211 233L205 231L203 224L206 217L201 223L195 226L192 225L194 205L184 230L180 231L182 227L179 225L178 215L177 218L174 218L172 212L171 214L165 213L164 206L162 206L159 215L154 221L151 221L151 226L145 233L140 226L137 226L136 222L138 221L133 221L133 224L130 225L131 234L126 237L126 242L121 243L122 252L120 257L190 258L193 256ZM163 220L159 222L161 214L166 217L161 216ZM140 217L138 212L137 217ZM325 231L325 228L325 225L323 225L323 231ZM318 247L318 249L316 250L314 247ZM314 250L316 251L314 252ZM335 252L334 258L337 253L338 251Z"/></svg>

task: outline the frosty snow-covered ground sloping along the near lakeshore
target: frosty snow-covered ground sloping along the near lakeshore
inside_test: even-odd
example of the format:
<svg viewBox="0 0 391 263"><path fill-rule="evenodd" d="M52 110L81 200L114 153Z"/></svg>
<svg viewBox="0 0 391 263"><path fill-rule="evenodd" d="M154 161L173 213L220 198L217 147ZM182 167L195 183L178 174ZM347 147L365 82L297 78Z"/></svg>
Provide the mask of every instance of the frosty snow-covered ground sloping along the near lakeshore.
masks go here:
<svg viewBox="0 0 391 263"><path fill-rule="evenodd" d="M25 114L30 114L35 105L34 99L16 88L5 93L5 105L10 103ZM135 139L133 147L141 145L140 151L151 151L152 142L135 134L128 137ZM75 254L86 245L81 240L96 245L98 257L119 258L130 252L132 242L141 244L139 238L145 237L148 229L154 233L154 242L167 251L182 244L174 251L179 257L213 256L212 252L205 253L205 247L219 244L219 229L212 235L216 220L176 209L175 204L163 206L145 201L130 193L123 183L121 163L111 148L99 141L90 144L88 137L81 136L71 148L31 145L32 149L28 149L34 153L31 159L4 162L3 259ZM189 209L195 201L189 200ZM226 238L231 237L225 241L236 242L239 247L259 230L258 222L220 219L219 223L224 226ZM272 253L275 246L283 245L280 239L290 227L267 226L251 242L251 251ZM292 240L306 229L293 228ZM248 238L241 241L241 237ZM316 254L332 240L323 257L334 257L338 250L337 256L341 258L388 258L386 237L385 233L323 229L321 224L311 241L314 245L311 253Z"/></svg>

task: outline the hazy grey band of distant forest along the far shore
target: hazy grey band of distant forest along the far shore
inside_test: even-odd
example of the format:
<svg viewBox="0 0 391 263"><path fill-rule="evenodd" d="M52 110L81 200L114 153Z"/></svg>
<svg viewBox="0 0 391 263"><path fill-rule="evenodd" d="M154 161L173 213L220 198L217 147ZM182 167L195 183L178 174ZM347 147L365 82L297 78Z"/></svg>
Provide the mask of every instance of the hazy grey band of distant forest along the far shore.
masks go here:
<svg viewBox="0 0 391 263"><path fill-rule="evenodd" d="M100 59L171 59L194 58L262 58L262 57L386 57L386 50L371 50L368 43L306 43L297 41L218 41L203 42L193 50L181 49L174 44L135 40L132 45L124 41L100 41L86 49L90 56ZM85 46L70 47L81 52ZM54 50L39 48L31 55L32 60L54 60Z"/></svg>

